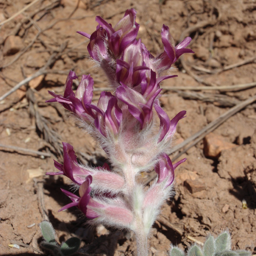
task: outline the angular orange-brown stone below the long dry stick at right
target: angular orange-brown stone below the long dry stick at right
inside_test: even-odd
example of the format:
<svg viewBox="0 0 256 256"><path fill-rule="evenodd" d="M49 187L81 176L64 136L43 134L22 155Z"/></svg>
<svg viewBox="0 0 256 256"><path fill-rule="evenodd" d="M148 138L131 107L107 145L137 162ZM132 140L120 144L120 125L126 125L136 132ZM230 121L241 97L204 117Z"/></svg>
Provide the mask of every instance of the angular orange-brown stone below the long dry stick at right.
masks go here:
<svg viewBox="0 0 256 256"><path fill-rule="evenodd" d="M226 142L224 137L209 133L204 138L204 155L210 158L219 158L220 153L223 150L231 149L237 145L233 143Z"/></svg>

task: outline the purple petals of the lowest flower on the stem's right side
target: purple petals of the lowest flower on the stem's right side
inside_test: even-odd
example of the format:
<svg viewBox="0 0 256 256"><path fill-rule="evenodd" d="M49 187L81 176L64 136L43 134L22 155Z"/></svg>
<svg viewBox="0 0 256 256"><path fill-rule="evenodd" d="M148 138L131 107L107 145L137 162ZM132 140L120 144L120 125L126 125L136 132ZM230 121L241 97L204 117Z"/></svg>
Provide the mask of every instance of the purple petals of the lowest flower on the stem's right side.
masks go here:
<svg viewBox="0 0 256 256"><path fill-rule="evenodd" d="M163 154L162 158L159 160L158 164L155 166L155 171L158 174L158 183L163 182L167 177L168 180L166 182L165 187L168 187L174 181L174 171L177 166L179 166L182 162L185 162L187 159L184 158L176 164L172 165L172 161L168 155Z"/></svg>

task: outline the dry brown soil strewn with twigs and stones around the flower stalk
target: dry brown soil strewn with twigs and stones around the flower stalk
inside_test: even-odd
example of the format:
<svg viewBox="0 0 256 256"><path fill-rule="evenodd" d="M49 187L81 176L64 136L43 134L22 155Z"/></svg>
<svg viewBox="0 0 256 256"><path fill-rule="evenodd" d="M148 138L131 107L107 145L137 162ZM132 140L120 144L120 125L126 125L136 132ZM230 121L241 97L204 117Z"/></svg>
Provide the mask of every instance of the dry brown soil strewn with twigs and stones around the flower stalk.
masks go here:
<svg viewBox="0 0 256 256"><path fill-rule="evenodd" d="M98 145L62 106L45 101L48 90L63 94L71 69L79 79L91 74L98 99L107 81L88 58L89 40L75 32L94 32L96 15L115 25L130 8L137 11L138 37L152 54L162 49L163 23L176 44L192 37L195 52L169 71L177 78L161 84L170 118L187 111L171 155L187 161L175 171L175 197L153 226L150 255L167 255L170 243L186 249L226 228L235 249L256 253L255 0L2 0L0 97L23 85L0 101L0 255L38 254L44 219L52 222L58 242L82 239L80 254L135 254L133 234L91 228L76 208L58 213L69 203L60 191L69 189L69 181L44 175L56 171L53 159L62 161L62 141L74 146L81 162L102 166L106 156ZM142 174L141 180L153 176Z"/></svg>

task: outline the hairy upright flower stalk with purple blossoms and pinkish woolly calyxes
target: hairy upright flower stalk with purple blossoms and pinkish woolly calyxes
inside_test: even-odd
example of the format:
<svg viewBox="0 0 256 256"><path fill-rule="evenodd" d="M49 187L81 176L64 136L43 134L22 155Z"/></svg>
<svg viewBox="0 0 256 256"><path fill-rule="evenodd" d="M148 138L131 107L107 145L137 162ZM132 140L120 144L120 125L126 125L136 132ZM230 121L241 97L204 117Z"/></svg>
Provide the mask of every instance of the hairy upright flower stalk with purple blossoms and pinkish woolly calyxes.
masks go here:
<svg viewBox="0 0 256 256"><path fill-rule="evenodd" d="M169 28L162 26L162 53L154 57L140 39L136 39L139 24L136 11L127 10L114 26L97 16L99 25L91 35L78 32L90 39L88 52L109 80L111 92L101 92L95 105L92 102L94 81L83 75L74 93L70 71L64 95L49 92L80 120L80 124L101 145L111 166L81 165L73 147L63 143L64 163L55 161L58 172L79 188L79 196L62 190L71 199L60 210L78 207L90 222L119 229L132 230L137 240L138 256L148 255L148 235L160 208L172 194L174 170L186 159L172 164L168 154L177 123L186 111L170 119L161 108L160 82L176 75L161 76L162 71L183 54L193 53L186 47L191 41L185 38L177 46ZM156 127L159 126L157 130ZM148 188L137 182L142 171L155 169L157 178Z"/></svg>

